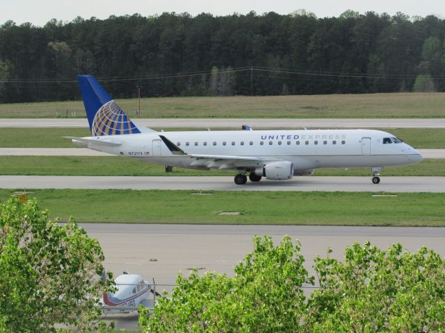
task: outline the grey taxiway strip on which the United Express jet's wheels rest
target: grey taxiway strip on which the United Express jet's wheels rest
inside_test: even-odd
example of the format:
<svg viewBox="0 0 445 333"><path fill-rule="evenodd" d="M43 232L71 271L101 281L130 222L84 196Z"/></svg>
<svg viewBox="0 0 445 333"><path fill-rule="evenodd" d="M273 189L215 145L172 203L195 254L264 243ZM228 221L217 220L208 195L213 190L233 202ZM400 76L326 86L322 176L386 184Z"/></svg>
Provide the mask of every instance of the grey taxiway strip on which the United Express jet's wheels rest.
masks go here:
<svg viewBox="0 0 445 333"><path fill-rule="evenodd" d="M179 189L203 191L385 191L445 192L445 177L294 177L235 185L226 176L0 176L3 189Z"/></svg>

